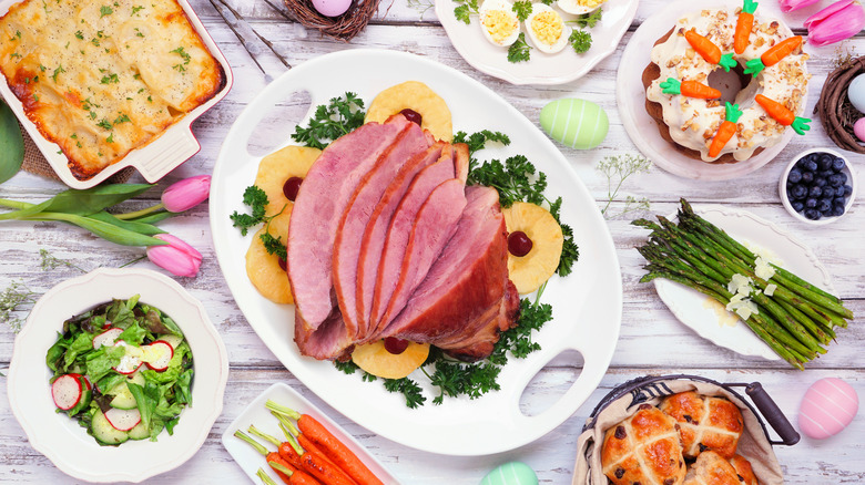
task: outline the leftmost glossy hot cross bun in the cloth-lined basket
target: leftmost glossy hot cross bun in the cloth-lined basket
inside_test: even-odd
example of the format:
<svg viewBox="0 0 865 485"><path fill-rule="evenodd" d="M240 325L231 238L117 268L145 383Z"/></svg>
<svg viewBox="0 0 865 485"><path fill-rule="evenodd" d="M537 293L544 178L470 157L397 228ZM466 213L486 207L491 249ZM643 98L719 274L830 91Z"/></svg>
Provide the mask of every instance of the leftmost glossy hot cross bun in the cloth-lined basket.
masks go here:
<svg viewBox="0 0 865 485"><path fill-rule="evenodd" d="M614 485L680 485L685 465L675 420L650 404L607 430L603 474Z"/></svg>

